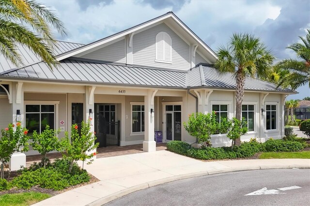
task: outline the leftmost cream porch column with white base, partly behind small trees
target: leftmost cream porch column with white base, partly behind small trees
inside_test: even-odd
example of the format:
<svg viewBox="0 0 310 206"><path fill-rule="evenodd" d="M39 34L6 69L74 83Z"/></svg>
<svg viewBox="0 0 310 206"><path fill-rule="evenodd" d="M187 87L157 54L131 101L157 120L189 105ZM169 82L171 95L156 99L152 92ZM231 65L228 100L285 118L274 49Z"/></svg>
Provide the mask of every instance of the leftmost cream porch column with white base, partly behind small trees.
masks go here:
<svg viewBox="0 0 310 206"><path fill-rule="evenodd" d="M13 83L12 84L12 93L13 93L13 101L12 101L12 123L16 125L17 120L20 120L21 124L25 125L25 112L24 112L24 88L23 82ZM21 114L20 119L16 119L17 110L19 110ZM9 112L9 111L8 111ZM16 152L12 155L9 167L11 171L19 170L20 166L26 166L26 155L25 153Z"/></svg>

